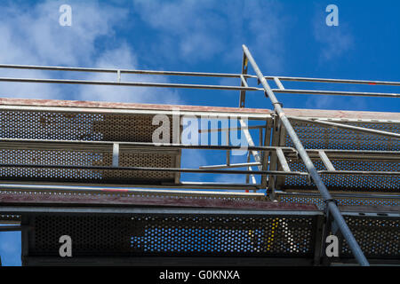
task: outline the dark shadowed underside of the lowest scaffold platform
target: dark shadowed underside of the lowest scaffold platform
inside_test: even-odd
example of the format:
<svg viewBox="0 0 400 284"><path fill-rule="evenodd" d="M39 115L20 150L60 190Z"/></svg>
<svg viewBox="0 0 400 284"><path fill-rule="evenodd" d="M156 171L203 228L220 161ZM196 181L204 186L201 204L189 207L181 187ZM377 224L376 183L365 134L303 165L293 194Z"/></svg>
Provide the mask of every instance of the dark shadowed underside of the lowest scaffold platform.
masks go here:
<svg viewBox="0 0 400 284"><path fill-rule="evenodd" d="M332 230L314 205L24 195L3 193L0 207L3 219L20 220L24 265L355 264L342 238L340 257L324 257L322 240ZM118 202L124 198L132 204ZM371 264L400 264L398 208L342 212ZM72 239L72 257L59 254L62 235Z"/></svg>

